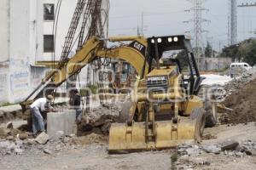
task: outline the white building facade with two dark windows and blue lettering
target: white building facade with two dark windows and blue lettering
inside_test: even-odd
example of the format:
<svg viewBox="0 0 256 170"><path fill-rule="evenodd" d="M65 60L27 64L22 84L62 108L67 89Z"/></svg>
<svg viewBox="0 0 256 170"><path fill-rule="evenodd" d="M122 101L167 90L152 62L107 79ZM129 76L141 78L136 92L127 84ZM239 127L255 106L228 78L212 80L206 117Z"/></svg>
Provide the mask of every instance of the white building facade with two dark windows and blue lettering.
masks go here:
<svg viewBox="0 0 256 170"><path fill-rule="evenodd" d="M47 70L37 61L50 61L56 39L61 54L77 0L62 0L58 30L53 32L58 0L0 1L0 105L19 103L37 87Z"/></svg>

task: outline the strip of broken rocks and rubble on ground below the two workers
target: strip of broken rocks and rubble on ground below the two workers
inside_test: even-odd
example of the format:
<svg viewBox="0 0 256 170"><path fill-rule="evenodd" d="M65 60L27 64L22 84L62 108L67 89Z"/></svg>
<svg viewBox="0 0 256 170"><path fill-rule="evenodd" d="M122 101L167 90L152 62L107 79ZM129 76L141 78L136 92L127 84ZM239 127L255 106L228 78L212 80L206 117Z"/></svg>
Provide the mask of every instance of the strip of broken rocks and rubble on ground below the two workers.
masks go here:
<svg viewBox="0 0 256 170"><path fill-rule="evenodd" d="M0 156L26 155L27 153L55 155L60 151L75 150L93 143L106 144L107 139L95 133L86 137L59 135L53 139L49 139L48 134L44 132L35 139L27 133L19 133L15 136L9 134L5 139L3 136L0 139Z"/></svg>

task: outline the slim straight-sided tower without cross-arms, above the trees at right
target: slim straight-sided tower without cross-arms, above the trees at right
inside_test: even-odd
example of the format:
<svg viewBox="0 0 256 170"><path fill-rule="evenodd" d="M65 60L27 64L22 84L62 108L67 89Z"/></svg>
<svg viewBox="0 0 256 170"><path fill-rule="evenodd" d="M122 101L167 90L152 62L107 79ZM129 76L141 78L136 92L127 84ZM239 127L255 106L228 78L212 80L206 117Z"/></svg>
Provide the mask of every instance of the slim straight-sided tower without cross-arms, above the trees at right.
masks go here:
<svg viewBox="0 0 256 170"><path fill-rule="evenodd" d="M229 45L237 43L237 7L236 0L229 0L229 18L228 18L228 42Z"/></svg>

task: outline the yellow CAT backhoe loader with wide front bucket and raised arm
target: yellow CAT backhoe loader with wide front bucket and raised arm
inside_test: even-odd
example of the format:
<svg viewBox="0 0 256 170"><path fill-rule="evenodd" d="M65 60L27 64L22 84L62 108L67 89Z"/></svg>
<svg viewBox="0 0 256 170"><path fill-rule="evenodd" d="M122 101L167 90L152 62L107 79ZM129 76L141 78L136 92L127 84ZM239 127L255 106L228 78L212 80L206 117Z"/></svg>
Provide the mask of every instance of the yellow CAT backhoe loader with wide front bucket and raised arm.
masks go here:
<svg viewBox="0 0 256 170"><path fill-rule="evenodd" d="M206 122L204 102L197 97L203 78L195 63L189 38L112 37L110 42L129 42L105 48L106 40L91 37L72 58L55 65L38 88L20 103L26 111L34 99L53 90L96 58L123 59L137 71L131 90L131 105L121 112L124 123L110 127L110 152L119 150L157 150L188 140L201 141ZM161 59L165 52L184 50L189 69L182 70L178 59ZM186 73L186 75L183 74ZM209 120L214 120L211 107ZM213 118L212 118L213 117Z"/></svg>

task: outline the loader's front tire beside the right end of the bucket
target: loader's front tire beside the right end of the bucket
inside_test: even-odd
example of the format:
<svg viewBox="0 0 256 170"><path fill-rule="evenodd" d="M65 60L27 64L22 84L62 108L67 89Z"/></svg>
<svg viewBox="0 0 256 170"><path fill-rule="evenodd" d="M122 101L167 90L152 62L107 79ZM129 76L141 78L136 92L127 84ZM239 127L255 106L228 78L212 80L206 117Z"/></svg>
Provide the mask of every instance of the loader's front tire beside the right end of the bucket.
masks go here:
<svg viewBox="0 0 256 170"><path fill-rule="evenodd" d="M195 108L189 116L191 120L196 120L195 141L200 143L206 124L206 113L202 107Z"/></svg>

